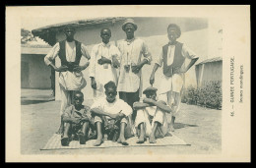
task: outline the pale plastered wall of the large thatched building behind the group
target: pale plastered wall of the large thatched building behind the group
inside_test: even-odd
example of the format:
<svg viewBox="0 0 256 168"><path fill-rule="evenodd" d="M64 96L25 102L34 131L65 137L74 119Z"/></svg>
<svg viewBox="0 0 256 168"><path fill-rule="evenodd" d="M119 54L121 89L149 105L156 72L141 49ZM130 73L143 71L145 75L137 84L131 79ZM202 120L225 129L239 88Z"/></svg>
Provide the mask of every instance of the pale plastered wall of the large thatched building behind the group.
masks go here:
<svg viewBox="0 0 256 168"><path fill-rule="evenodd" d="M180 42L186 43L194 52L196 52L200 60L204 60L208 55L208 28L206 22L198 24L198 28L195 26L190 26L191 23L178 20L178 19L138 19L135 20L138 23L138 29L135 31L137 37L143 38L149 46L149 49L152 53L153 62L151 65L146 65L143 68L143 88L149 86L149 79L151 72L154 67L154 62L160 54L161 46L168 42L166 28L170 23L176 23L181 27L181 30L184 30L181 34L181 37L178 39ZM158 25L158 27L154 27ZM125 32L121 29L122 22L116 23L114 25L101 25L94 28L78 28L75 38L88 46L89 52L91 52L93 46L96 43L101 41L99 36L100 29L103 27L110 28L112 31L111 42L116 43L118 40L125 37ZM63 32L60 32L56 35L57 41L65 39ZM200 62L198 60L198 62ZM87 60L82 58L81 64L85 64ZM186 64L188 60L186 60ZM60 65L60 60L57 58L56 65ZM86 96L93 97L93 89L91 87L91 79L89 78L88 69L83 72L85 79L88 82L88 85L82 90ZM156 74L156 84L154 86L159 86L160 79L162 78L162 69L158 70ZM186 74L185 85L196 85L196 75L195 68L192 67ZM58 73L56 74L56 100L60 99L59 84L58 84Z"/></svg>

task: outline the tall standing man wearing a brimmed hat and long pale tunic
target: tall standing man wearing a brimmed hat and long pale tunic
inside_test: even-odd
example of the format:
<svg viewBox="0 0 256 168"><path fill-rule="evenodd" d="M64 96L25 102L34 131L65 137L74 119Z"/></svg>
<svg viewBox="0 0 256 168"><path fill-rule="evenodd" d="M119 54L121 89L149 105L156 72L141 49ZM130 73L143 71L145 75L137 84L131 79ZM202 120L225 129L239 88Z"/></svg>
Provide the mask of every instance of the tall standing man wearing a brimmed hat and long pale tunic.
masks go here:
<svg viewBox="0 0 256 168"><path fill-rule="evenodd" d="M139 101L142 96L141 69L145 64L150 64L152 58L145 41L134 36L137 25L133 19L127 19L122 29L126 33L126 38L118 45L121 59L117 90L119 97L132 107L133 103ZM133 125L135 117L136 111L134 110L130 124Z"/></svg>

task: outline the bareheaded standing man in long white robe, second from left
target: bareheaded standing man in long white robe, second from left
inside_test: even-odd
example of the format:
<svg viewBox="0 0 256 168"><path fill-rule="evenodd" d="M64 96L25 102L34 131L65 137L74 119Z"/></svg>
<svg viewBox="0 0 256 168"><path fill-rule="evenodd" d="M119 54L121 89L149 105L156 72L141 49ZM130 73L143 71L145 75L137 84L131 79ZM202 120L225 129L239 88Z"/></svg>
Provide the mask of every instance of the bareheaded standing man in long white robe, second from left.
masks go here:
<svg viewBox="0 0 256 168"><path fill-rule="evenodd" d="M95 99L104 96L104 84L110 81L117 84L116 69L120 66L120 52L115 45L109 43L111 30L102 28L100 37L102 42L93 47L89 68Z"/></svg>

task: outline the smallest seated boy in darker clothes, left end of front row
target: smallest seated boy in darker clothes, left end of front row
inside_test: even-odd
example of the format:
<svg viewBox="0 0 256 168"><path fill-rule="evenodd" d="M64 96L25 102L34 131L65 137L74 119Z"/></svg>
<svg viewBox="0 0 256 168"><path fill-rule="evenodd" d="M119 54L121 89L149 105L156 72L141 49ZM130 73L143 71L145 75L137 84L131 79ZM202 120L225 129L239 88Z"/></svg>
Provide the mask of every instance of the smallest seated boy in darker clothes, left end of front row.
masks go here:
<svg viewBox="0 0 256 168"><path fill-rule="evenodd" d="M92 125L92 116L90 107L82 105L84 94L76 91L74 95L74 105L66 108L62 119L65 123L64 133L62 135L61 144L69 145L72 136L78 136L80 144L85 144L89 137L90 125Z"/></svg>

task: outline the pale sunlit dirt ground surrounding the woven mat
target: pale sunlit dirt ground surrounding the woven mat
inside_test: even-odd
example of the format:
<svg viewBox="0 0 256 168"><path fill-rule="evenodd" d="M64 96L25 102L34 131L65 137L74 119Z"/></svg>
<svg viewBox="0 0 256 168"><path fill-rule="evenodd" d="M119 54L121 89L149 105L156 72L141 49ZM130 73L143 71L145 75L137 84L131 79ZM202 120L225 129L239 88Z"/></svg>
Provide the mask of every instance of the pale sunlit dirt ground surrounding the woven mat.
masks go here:
<svg viewBox="0 0 256 168"><path fill-rule="evenodd" d="M22 91L22 154L216 154L222 151L222 111L181 104L174 134L191 145L40 150L60 124L50 90ZM92 104L85 100L84 104Z"/></svg>

